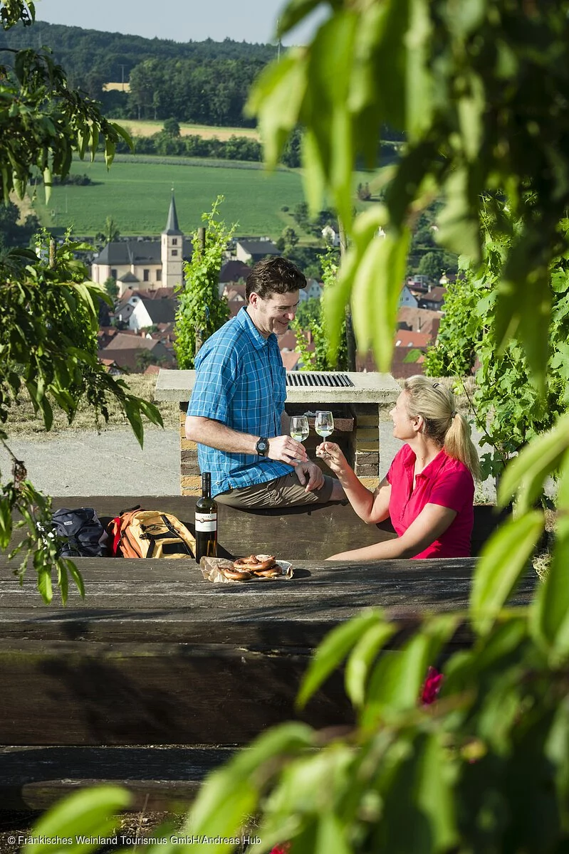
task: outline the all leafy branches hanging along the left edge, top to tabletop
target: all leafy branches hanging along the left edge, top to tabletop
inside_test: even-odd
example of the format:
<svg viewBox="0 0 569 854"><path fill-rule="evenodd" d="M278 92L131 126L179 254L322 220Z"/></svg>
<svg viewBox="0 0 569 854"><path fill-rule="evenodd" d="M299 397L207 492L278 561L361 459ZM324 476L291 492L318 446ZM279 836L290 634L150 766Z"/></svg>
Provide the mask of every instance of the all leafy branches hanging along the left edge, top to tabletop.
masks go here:
<svg viewBox="0 0 569 854"><path fill-rule="evenodd" d="M29 25L34 4L24 0L0 2L4 29L19 21ZM6 52L5 49L3 49ZM104 139L108 166L116 143L128 135L106 120L96 102L68 89L62 68L50 56L34 50L7 51L13 65L0 65L0 197L9 202L15 191L23 198L32 175L44 177L46 198L54 177L65 178L73 155L95 156ZM0 442L12 460L11 477L0 473L0 550L6 551L15 529L20 544L9 554L21 559L22 578L28 563L38 574L43 599L52 597L52 583L67 599L68 574L83 593L79 572L71 561L58 559L50 531L50 500L38 494L26 478L26 467L15 459L8 441L10 408L25 390L46 430L53 407L73 421L81 401L99 417L108 418L114 398L126 414L138 442L143 441L143 415L161 424L160 412L131 395L97 360L99 300L103 290L86 282L87 270L73 253L78 243L55 243L30 249L5 249L0 255L0 295L3 325L0 335ZM15 514L20 520L15 521Z"/></svg>

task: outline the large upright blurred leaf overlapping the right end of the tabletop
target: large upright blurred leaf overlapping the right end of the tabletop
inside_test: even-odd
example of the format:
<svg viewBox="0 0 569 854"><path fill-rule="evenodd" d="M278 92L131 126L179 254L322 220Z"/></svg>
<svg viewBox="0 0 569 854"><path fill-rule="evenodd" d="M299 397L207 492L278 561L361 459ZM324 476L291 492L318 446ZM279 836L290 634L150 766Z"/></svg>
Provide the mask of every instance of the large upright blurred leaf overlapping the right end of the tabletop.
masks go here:
<svg viewBox="0 0 569 854"><path fill-rule="evenodd" d="M527 512L502 524L484 545L470 598L472 624L487 634L525 570L543 530L543 513Z"/></svg>

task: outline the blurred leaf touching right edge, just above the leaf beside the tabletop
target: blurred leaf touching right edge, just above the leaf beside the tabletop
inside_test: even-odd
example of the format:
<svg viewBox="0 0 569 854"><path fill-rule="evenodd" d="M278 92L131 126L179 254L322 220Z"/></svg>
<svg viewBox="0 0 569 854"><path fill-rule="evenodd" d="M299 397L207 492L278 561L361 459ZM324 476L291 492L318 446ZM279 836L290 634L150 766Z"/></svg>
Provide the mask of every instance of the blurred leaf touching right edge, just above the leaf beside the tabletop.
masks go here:
<svg viewBox="0 0 569 854"><path fill-rule="evenodd" d="M543 483L560 464L569 447L569 415L543 436L532 439L506 467L498 489L498 504L506 506L519 490L519 508L529 510L543 492Z"/></svg>

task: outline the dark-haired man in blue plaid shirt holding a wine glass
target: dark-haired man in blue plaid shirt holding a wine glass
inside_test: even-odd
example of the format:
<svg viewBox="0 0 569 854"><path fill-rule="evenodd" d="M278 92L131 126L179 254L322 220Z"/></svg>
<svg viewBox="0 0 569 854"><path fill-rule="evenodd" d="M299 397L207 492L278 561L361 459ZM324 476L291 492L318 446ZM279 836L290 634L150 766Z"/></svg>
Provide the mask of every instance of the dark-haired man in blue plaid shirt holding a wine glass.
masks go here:
<svg viewBox="0 0 569 854"><path fill-rule="evenodd" d="M203 344L185 435L223 504L277 507L342 500L343 488L288 435L285 366L278 335L294 319L306 278L291 261L259 261L247 305Z"/></svg>

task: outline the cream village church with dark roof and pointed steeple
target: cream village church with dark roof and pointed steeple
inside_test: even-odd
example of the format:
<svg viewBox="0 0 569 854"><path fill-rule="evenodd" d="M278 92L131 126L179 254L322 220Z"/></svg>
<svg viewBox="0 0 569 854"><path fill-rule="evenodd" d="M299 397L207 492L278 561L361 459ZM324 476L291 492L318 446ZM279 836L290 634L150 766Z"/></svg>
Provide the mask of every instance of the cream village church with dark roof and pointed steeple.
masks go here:
<svg viewBox="0 0 569 854"><path fill-rule="evenodd" d="M129 289L173 288L183 281L183 263L190 259L191 240L180 231L172 194L166 227L160 239L132 237L107 243L93 260L91 279L104 284L108 278L114 278L119 298Z"/></svg>

